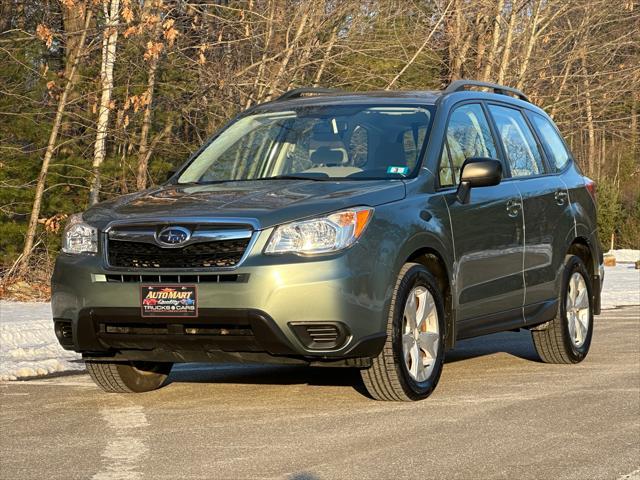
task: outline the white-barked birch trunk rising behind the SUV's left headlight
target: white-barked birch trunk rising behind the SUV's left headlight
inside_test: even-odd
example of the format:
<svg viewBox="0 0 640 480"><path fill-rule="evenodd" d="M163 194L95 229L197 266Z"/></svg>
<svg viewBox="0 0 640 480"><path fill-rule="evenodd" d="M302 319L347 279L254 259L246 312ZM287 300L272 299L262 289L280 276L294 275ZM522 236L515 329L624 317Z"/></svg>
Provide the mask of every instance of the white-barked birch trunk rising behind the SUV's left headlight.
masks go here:
<svg viewBox="0 0 640 480"><path fill-rule="evenodd" d="M113 92L113 64L116 61L118 41L118 18L120 0L103 0L105 28L102 38L102 65L100 67L100 87L102 95L96 123L96 143L93 151L93 181L89 190L89 205L95 205L100 198L100 166L106 154L107 128L109 125L109 105Z"/></svg>

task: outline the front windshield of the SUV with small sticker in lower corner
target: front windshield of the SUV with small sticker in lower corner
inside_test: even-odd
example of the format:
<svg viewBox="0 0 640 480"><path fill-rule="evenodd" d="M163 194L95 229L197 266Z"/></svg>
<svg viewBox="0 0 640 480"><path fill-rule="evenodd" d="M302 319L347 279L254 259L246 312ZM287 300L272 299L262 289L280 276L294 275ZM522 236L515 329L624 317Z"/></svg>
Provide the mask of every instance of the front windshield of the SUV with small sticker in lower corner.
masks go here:
<svg viewBox="0 0 640 480"><path fill-rule="evenodd" d="M179 183L410 175L431 113L418 107L314 106L248 115L215 138Z"/></svg>

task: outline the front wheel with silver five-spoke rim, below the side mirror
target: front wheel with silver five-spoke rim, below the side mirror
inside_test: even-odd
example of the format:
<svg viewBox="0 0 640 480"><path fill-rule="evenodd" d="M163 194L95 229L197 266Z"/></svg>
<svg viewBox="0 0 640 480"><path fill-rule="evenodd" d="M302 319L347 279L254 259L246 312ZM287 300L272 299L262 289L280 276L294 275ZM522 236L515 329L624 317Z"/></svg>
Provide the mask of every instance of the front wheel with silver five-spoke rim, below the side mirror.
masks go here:
<svg viewBox="0 0 640 480"><path fill-rule="evenodd" d="M444 361L444 300L436 279L417 263L400 270L387 320L387 340L373 364L361 370L376 400L427 398Z"/></svg>

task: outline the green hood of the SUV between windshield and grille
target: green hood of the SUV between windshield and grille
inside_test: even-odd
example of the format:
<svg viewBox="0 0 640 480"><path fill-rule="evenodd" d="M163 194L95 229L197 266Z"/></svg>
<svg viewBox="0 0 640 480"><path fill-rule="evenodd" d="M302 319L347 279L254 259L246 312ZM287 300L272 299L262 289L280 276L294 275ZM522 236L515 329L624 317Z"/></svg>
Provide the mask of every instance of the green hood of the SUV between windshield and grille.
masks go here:
<svg viewBox="0 0 640 480"><path fill-rule="evenodd" d="M210 185L164 185L100 203L83 214L104 227L114 220L243 219L262 229L359 205L405 196L402 180L255 180Z"/></svg>

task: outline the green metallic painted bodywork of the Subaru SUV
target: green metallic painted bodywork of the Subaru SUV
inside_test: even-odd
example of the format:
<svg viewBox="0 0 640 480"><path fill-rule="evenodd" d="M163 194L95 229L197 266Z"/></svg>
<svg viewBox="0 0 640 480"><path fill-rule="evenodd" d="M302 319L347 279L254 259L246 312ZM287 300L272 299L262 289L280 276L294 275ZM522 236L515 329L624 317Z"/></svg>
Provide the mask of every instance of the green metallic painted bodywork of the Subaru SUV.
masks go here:
<svg viewBox="0 0 640 480"><path fill-rule="evenodd" d="M398 104L398 98L394 96L391 102L371 96L366 101ZM340 358L359 340L384 335L398 272L420 252L436 255L445 266L452 297L447 330L454 332L454 338L447 341L449 347L460 326L461 336L469 336L495 331L500 325L524 325L526 312L540 310L525 305L530 302L525 299L524 278L530 283L530 297L526 298L536 300L536 305L553 306L553 301L540 302L552 300L544 297L559 291L558 265L576 237L585 238L590 245L593 271L598 271L601 255L595 236L595 207L573 163L561 174L540 177L529 186L507 178L497 186L472 189L468 205L456 201L455 189L437 189L432 172L437 171L450 110L463 101L495 101L500 97L458 92L444 97L407 93L400 98L411 105L435 101L437 106L424 161L414 178L264 180L198 186L169 183L99 204L85 212L84 219L101 232L110 222L123 220L158 219L161 224L179 225L186 218L199 218L250 225L257 238L244 262L233 270L249 274L249 280L199 284L200 306L266 312L306 358ZM317 97L291 102L313 105L332 101L335 99ZM340 101L363 102L358 97ZM526 102L509 103L545 115ZM560 188L558 180L566 185L571 200L561 212L549 199L534 198L538 187L549 193ZM522 212L515 218L507 215L506 203L514 198L524 200L524 220ZM371 206L375 211L363 235L347 250L306 257L263 254L275 226L354 206ZM553 224L553 218L557 231L542 228ZM523 262L529 273L523 274ZM105 268L101 252L59 255L52 279L53 316L77 322L82 308L139 307L138 284L94 281L96 275L122 272ZM300 321L344 322L351 338L338 350L310 352L288 325ZM465 324L469 325L466 334Z"/></svg>

